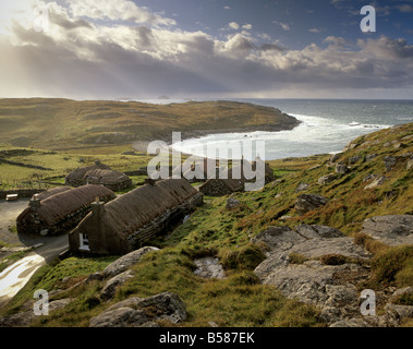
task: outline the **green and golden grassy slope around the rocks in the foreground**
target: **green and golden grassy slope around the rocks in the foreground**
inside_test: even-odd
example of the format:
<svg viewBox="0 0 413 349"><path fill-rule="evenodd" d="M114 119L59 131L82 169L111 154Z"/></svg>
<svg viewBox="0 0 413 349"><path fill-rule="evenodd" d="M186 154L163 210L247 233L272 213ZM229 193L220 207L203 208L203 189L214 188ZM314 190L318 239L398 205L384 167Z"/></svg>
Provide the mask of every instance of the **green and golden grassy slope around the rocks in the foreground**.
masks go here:
<svg viewBox="0 0 413 349"><path fill-rule="evenodd" d="M64 310L37 320L35 325L87 326L92 316L114 302L131 296L172 291L187 306L190 316L183 326L208 326L209 321L220 326L325 326L314 306L287 299L277 289L259 284L252 270L265 256L260 246L250 242L251 238L268 226L307 222L328 225L360 240L357 232L367 217L413 214L412 170L408 169L412 153L411 123L359 137L335 164L328 155L271 161L279 180L259 192L233 195L242 203L238 208L226 208L228 197L205 197L205 204L183 225L150 241L148 244L162 250L145 255L134 266L135 277L118 290L111 302L98 299L102 287L99 281L70 289L61 280L66 276L75 276L76 281L85 278L92 272L101 270L113 256L106 260L72 256L38 273L5 312L16 311L37 288L49 291L68 288L54 298L76 297L76 300ZM349 172L335 173L338 161L349 166ZM319 184L318 179L329 173L335 173L333 180ZM386 179L374 189L365 189L372 183L372 174ZM308 188L296 192L301 183ZM300 216L294 202L302 193L323 195L328 203ZM411 282L413 260L399 261L397 265L388 262L398 258L399 250L381 245L381 254L376 251L372 270L377 282L399 282L398 286ZM202 256L218 256L229 277L218 280L195 276L194 258ZM86 264L93 268L82 274L78 266ZM396 281L382 276L390 267L391 275L397 275Z"/></svg>

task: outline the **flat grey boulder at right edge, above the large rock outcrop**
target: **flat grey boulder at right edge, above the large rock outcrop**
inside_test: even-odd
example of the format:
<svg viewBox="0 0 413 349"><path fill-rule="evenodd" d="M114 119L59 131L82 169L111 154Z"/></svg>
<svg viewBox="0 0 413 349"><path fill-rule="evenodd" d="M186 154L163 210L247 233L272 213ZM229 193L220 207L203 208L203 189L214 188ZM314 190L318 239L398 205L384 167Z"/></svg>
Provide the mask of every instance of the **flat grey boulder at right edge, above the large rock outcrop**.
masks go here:
<svg viewBox="0 0 413 349"><path fill-rule="evenodd" d="M392 246L412 244L413 216L388 215L367 218L361 232Z"/></svg>

